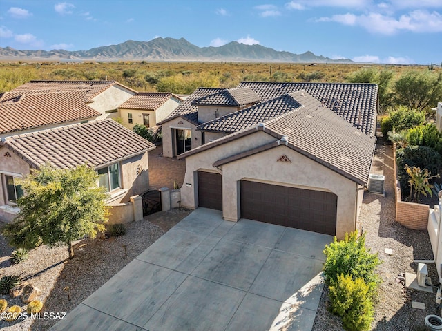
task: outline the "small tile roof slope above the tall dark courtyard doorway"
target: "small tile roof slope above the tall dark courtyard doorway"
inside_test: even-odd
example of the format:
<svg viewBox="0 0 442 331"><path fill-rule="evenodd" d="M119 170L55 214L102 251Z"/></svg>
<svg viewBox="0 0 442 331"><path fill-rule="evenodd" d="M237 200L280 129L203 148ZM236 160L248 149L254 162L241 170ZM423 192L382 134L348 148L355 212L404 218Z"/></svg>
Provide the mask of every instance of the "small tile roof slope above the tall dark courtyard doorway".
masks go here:
<svg viewBox="0 0 442 331"><path fill-rule="evenodd" d="M206 95L212 95L213 93L222 90L224 90L224 88L197 88L191 95L189 95L189 97L186 98L186 100L184 100L184 102L182 102L182 104L180 104L180 106L175 108L175 111L166 117L166 119L162 120L162 122L158 122L157 125L169 122L176 117L182 117L184 120L187 120L194 125L200 124L200 122L198 122L198 106L192 104L193 100L197 100L200 97L205 97Z"/></svg>

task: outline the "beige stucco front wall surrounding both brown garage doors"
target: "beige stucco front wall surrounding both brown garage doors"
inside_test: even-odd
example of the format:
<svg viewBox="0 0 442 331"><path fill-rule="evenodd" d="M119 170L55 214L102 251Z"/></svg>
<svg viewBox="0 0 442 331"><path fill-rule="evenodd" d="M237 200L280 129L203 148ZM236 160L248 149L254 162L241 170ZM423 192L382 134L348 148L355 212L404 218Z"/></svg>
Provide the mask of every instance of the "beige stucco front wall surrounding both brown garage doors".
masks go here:
<svg viewBox="0 0 442 331"><path fill-rule="evenodd" d="M229 142L229 144L224 144L224 146L218 146L186 158L184 183L190 183L192 187L183 185L181 191L183 205L190 208L198 207L196 171L207 169L222 173L222 213L226 220L236 221L240 218L239 181L248 179L275 185L332 192L338 196L336 236L343 238L345 232L354 231L356 229L356 183L287 146L278 146L224 164L221 170L212 167L216 160L249 149L253 144L263 145L275 140L276 138L266 133L258 132L254 133L253 137L240 138ZM277 162L283 154L287 155L291 163Z"/></svg>

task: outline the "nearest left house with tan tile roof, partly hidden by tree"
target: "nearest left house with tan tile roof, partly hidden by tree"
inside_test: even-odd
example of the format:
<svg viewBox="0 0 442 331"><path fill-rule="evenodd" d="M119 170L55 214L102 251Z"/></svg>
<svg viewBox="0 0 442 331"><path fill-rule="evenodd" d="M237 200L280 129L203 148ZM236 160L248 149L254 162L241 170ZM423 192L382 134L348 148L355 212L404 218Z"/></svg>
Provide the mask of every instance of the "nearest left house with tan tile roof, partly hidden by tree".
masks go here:
<svg viewBox="0 0 442 331"><path fill-rule="evenodd" d="M155 145L111 119L10 136L0 142L0 219L15 217L20 179L42 164L69 168L86 162L97 170L108 204L128 202L148 189L151 149Z"/></svg>

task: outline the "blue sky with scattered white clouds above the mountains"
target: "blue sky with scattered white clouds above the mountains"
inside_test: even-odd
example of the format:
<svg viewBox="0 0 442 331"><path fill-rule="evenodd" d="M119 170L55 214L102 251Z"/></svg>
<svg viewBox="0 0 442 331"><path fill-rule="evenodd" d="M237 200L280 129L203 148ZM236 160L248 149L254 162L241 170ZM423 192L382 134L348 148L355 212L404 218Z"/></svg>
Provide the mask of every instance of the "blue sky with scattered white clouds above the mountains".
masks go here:
<svg viewBox="0 0 442 331"><path fill-rule="evenodd" d="M230 41L333 59L441 64L442 0L1 0L0 46L88 50L126 40Z"/></svg>

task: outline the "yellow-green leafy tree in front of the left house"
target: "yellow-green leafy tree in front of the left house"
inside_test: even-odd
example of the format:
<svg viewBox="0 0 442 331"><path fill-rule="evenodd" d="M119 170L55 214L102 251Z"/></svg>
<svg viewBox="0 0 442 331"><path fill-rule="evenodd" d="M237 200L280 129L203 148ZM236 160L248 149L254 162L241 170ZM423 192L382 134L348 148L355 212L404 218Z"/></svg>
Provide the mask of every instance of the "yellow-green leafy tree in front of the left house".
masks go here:
<svg viewBox="0 0 442 331"><path fill-rule="evenodd" d="M19 198L20 212L3 228L10 245L32 249L39 245L67 245L104 231L108 211L106 193L97 185L97 173L86 164L72 169L41 167L23 179L26 195Z"/></svg>

